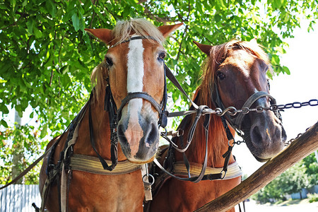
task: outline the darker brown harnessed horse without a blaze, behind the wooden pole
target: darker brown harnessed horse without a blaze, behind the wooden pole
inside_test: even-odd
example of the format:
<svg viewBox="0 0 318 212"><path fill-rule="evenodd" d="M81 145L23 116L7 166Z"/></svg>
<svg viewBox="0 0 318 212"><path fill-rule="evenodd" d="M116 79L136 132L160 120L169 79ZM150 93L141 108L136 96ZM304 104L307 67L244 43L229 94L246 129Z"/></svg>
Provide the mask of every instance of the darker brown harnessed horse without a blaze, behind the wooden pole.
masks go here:
<svg viewBox="0 0 318 212"><path fill-rule="evenodd" d="M266 71L271 70L269 59L255 40L230 41L213 47L199 43L196 45L208 55L201 86L194 95L196 105L207 105L210 108L233 106L239 109L246 106L245 102L248 100L250 102L248 107L269 107L269 95L259 96L254 100L250 98L255 93L269 93ZM182 146L182 138L187 138L194 117L195 115L188 115L182 120L179 129L184 130L184 136L173 139L178 146ZM232 127L242 134L257 160L269 160L283 149L285 131L274 112L269 110L249 112L239 123L234 121L235 118L237 117L226 117L227 121L232 123ZM225 161L223 154L229 149L229 139L220 117L211 115L209 122L207 171L221 172ZM189 160L192 176L199 175L198 169L201 170L205 160L206 136L204 128L201 127L203 123L204 120L200 119L194 132L194 139L184 153ZM230 130L234 134L235 131ZM184 143L185 141L183 145ZM169 167L172 161L170 165L173 164L172 172L175 175L187 177L184 155L170 148L169 153L168 151L163 153L161 163L167 158L165 163ZM228 173L224 179L194 183L167 177L154 196L150 211L194 211L240 184L240 175L240 168L230 155ZM232 208L230 211L235 209Z"/></svg>

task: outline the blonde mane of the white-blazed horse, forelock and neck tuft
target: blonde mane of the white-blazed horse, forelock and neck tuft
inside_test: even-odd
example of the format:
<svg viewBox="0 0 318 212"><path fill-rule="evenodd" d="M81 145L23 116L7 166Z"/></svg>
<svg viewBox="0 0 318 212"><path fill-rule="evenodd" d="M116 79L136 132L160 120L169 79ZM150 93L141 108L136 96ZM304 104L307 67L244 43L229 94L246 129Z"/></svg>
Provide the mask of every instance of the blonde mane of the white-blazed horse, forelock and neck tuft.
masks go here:
<svg viewBox="0 0 318 212"><path fill-rule="evenodd" d="M119 20L112 30L112 37L114 37L114 41L116 41L115 45L123 42L124 40L129 39L131 35L139 35L139 36L151 36L153 40L149 40L150 42L158 42L163 44L165 38L163 34L160 33L157 27L153 25L153 23L148 20L142 18L136 18L131 20ZM98 66L95 67L93 73L90 76L90 81L95 87L93 90L94 98L99 100L99 96L102 91L105 90L107 78L107 66L105 64L105 60L102 61Z"/></svg>

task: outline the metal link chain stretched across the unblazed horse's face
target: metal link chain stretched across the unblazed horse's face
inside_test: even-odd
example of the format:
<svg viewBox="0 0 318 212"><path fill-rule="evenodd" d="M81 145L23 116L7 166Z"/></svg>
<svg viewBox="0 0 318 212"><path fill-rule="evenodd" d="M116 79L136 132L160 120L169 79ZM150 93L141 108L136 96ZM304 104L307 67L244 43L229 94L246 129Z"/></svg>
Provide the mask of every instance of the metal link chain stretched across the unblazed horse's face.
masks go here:
<svg viewBox="0 0 318 212"><path fill-rule="evenodd" d="M230 114L231 116L235 116L237 113L243 113L247 114L249 112L263 112L264 110L271 110L271 111L277 111L277 110L284 110L284 109L290 109L290 108L300 108L305 106L317 106L318 100L313 99L309 100L308 102L293 102L288 103L285 105L271 105L269 107L267 106L257 106L255 108L248 108L248 107L242 107L242 109L237 110L235 107L227 107L225 110L222 110L220 108L216 108L216 110L212 109L205 109L203 111L203 114L216 114L220 117L224 116L226 113Z"/></svg>

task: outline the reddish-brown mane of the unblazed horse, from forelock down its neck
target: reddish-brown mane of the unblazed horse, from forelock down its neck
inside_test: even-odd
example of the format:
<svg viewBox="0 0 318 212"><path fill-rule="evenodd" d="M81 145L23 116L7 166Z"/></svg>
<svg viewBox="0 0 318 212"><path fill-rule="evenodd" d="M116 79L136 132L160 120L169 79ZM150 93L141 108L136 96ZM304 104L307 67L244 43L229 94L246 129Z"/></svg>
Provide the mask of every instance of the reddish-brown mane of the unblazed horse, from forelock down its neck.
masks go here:
<svg viewBox="0 0 318 212"><path fill-rule="evenodd" d="M269 62L269 58L267 57L267 54L264 52L264 50L257 45L256 42L244 42L244 41L237 41L232 40L230 42L226 42L222 45L216 45L211 48L210 56L206 59L204 66L203 66L203 76L202 76L202 82L199 88L196 89L196 93L194 94L194 99L197 99L198 102L196 102L198 105L207 105L209 108L215 108L215 105L213 105L212 102L212 89L213 89L213 83L215 80L215 73L218 70L218 67L220 64L223 63L226 57L228 57L228 51L230 49L245 49L247 52L250 52L254 56L263 59L266 64L269 65L269 71L272 71L271 64ZM196 129L196 135L194 137L201 137L204 138L204 129L202 126L204 119L202 118L200 122L198 123L197 129ZM212 124L213 123L213 124ZM222 131L223 134L220 134L219 132ZM234 131L232 131L232 134L234 134ZM216 137L217 136L217 137ZM211 161L212 165L216 162L216 160L219 160L218 158L214 157L213 155L220 155L220 150L222 148L226 148L228 145L227 141L222 142L222 140L226 140L225 130L223 129L223 124L220 121L220 118L216 115L211 115L211 124L209 127L209 142L215 141L214 143L210 143L208 148L209 156L208 158L213 158L213 161ZM204 141L204 140L202 140ZM218 142L216 142L218 141ZM196 146L197 149L204 150L205 149L205 142L201 142L200 144L197 143ZM191 146L190 146L191 148ZM199 158L200 163L204 163L204 151L197 151L192 150L192 153L194 154L195 158Z"/></svg>

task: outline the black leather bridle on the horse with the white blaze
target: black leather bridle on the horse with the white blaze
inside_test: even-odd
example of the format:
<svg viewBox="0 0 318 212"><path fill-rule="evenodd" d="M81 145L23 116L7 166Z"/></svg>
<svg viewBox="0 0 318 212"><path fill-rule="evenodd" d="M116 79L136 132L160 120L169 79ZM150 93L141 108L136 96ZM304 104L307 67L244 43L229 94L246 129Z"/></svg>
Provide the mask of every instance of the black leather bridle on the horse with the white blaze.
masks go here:
<svg viewBox="0 0 318 212"><path fill-rule="evenodd" d="M112 45L110 48L115 47L117 45L120 45L125 42L130 42L131 40L143 40L143 39L151 39L155 40L151 36L136 36L136 37L129 37L129 39L124 40L123 42L117 43L115 45ZM96 150L95 147L95 139L93 136L93 122L92 122L92 115L91 115L91 110L90 110L90 103L89 103L89 126L90 126L90 143L95 151L95 153L98 155L98 158L100 159L100 163L102 163L102 167L104 170L113 170L114 167L117 165L118 158L117 158L117 151L118 151L118 136L117 136L117 124L122 117L122 109L124 106L130 101L134 99L143 99L151 103L153 107L155 107L155 110L157 110L159 114L159 121L158 121L158 127L162 126L165 127L167 125L167 117L165 114L166 110L166 105L167 105L167 81L166 81L166 66L164 66L164 79L165 79L165 86L163 90L163 100L161 100L160 104L156 102L151 95L149 95L146 92L134 92L134 93L128 93L126 97L122 100L122 104L120 107L117 109L116 104L114 102L114 98L112 96L112 90L110 88L110 80L109 80L109 74L106 79L107 81L107 86L105 90L105 102L104 102L104 109L105 111L108 112L109 117L110 117L110 143L111 143L111 160L112 160L112 165L107 165L106 161L100 156L98 151ZM108 71L109 68L107 67ZM93 97L93 92L90 94L90 100L91 102Z"/></svg>

